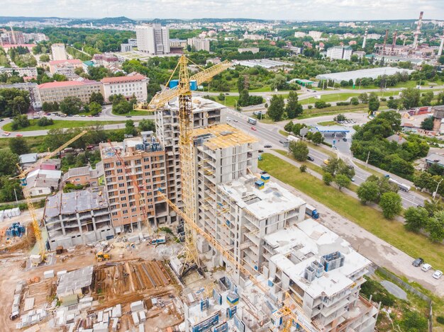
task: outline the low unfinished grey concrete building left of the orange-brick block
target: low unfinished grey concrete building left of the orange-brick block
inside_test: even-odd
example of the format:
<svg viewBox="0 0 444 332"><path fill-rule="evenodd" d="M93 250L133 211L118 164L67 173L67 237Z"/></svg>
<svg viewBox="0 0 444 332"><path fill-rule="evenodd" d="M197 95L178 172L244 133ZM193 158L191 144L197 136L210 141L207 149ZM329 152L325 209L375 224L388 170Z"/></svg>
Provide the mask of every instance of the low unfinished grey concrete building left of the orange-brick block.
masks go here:
<svg viewBox="0 0 444 332"><path fill-rule="evenodd" d="M51 250L91 244L114 235L103 188L48 196L43 220Z"/></svg>

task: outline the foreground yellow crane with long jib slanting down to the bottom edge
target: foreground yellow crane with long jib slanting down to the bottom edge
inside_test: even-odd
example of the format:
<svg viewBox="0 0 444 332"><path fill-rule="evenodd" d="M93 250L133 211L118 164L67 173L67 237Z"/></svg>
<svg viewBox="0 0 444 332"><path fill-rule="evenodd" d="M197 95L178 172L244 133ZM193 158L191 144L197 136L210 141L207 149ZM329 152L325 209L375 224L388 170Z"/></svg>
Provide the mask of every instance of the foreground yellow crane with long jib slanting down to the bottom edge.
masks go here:
<svg viewBox="0 0 444 332"><path fill-rule="evenodd" d="M201 236L206 239L206 241L209 242L215 248L221 255L226 258L230 263L235 265L236 268L240 271L240 273L243 273L243 275L246 275L248 279L251 280L253 285L257 286L264 294L268 294L270 289L269 287L265 286L260 280L257 279L255 275L253 275L250 270L245 268L244 265L236 261L235 257L233 256L233 253L231 253L229 248L224 248L211 234L207 233L203 229L201 229L196 222L194 222L193 219L191 219L187 214L182 212L182 210L177 207L171 200L167 198L167 196L162 193L162 191L159 189L158 195L160 198L165 200L168 205L176 212L182 219L184 219L185 224L188 225L190 229L193 229L196 231L196 233L200 234ZM296 311L296 312L295 312ZM277 311L273 314L275 321L278 321L279 323L282 321L284 324L284 328L282 329L282 332L289 332L291 331L291 328L294 323L299 324L301 328L304 329L306 332L318 332L320 331L318 328L314 327L311 323L311 319L307 317L304 314L303 309L299 304L292 301L292 297L289 295L288 292L285 292L285 299L283 302L283 305L281 308L277 309ZM277 324L278 326L280 324Z"/></svg>

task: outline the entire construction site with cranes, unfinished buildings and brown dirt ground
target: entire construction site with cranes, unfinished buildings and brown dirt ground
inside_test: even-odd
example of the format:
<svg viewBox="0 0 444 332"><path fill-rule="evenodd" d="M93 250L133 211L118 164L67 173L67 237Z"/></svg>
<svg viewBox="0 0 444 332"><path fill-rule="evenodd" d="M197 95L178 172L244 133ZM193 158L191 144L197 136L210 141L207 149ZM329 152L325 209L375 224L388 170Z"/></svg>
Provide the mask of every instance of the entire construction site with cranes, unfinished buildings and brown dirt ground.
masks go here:
<svg viewBox="0 0 444 332"><path fill-rule="evenodd" d="M101 144L103 189L35 209L35 246L0 256L7 331L374 331L360 296L370 261L257 167L257 139L192 91L231 67L179 79L135 110L156 134ZM85 132L45 156L49 159ZM38 163L43 161L38 161ZM129 205L129 206L128 206ZM21 234L21 225L13 226Z"/></svg>

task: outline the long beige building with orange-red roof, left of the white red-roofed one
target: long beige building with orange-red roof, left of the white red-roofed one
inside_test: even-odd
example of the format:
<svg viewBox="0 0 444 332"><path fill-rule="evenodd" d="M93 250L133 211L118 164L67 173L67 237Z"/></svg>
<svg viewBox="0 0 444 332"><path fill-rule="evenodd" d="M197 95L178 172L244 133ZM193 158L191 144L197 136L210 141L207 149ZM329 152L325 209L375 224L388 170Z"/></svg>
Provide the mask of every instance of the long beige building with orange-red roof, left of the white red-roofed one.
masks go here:
<svg viewBox="0 0 444 332"><path fill-rule="evenodd" d="M102 92L101 83L97 81L64 81L40 84L38 87L42 103L57 101L60 103L66 97L78 97L84 103L89 103L93 92ZM146 88L145 88L146 90Z"/></svg>

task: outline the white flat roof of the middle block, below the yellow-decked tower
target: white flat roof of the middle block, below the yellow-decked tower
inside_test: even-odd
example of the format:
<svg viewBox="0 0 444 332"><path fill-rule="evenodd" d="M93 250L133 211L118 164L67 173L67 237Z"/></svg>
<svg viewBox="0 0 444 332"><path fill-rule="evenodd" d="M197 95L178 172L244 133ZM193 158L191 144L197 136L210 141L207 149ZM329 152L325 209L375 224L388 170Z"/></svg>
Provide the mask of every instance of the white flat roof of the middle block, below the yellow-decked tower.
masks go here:
<svg viewBox="0 0 444 332"><path fill-rule="evenodd" d="M256 187L255 181L257 181L256 176L243 176L228 183L219 184L218 190L229 195L239 207L260 220L305 204L304 200L294 196L277 183L267 182L265 188L260 190Z"/></svg>

